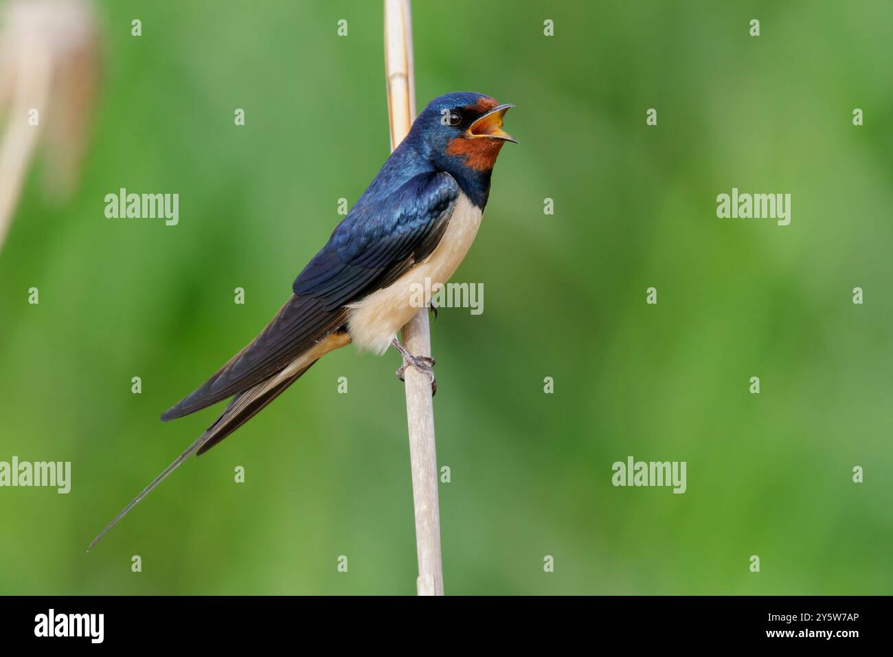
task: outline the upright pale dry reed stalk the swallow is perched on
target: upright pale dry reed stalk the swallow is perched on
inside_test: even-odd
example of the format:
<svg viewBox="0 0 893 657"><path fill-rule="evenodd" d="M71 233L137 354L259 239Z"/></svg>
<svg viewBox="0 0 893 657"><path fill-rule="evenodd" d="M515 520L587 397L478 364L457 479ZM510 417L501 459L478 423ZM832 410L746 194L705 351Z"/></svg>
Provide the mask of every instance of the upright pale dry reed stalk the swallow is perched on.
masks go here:
<svg viewBox="0 0 893 657"><path fill-rule="evenodd" d="M385 73L388 80L388 117L391 150L404 139L415 117L413 25L409 0L385 0ZM403 344L414 356L431 355L428 308L422 308L403 327ZM434 403L428 375L405 370L406 421L409 459L413 470L415 546L419 557L419 595L443 595L440 556L438 458L434 442Z"/></svg>

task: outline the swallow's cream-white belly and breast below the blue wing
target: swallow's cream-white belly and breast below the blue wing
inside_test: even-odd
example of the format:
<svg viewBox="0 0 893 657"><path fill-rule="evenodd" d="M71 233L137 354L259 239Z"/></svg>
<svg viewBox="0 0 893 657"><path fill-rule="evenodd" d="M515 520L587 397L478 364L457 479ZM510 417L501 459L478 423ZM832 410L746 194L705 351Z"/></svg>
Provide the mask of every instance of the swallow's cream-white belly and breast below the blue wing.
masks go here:
<svg viewBox="0 0 893 657"><path fill-rule="evenodd" d="M389 287L348 306L347 329L355 345L377 354L388 350L397 331L421 310L419 300L424 295L420 291L446 283L462 263L478 234L481 214L480 207L460 191L447 230L430 256Z"/></svg>

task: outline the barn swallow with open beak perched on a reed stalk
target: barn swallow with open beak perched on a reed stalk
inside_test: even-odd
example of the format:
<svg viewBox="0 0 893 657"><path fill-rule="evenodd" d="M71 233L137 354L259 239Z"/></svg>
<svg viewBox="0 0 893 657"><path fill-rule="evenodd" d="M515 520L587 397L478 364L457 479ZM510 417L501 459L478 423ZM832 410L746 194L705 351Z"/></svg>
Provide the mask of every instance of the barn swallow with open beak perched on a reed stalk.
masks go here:
<svg viewBox="0 0 893 657"><path fill-rule="evenodd" d="M411 354L396 333L420 308L418 290L444 284L472 246L490 177L505 142L493 97L459 91L422 110L330 239L297 275L270 323L205 383L166 410L171 420L230 399L221 416L96 535L96 543L193 454L204 454L255 417L330 351L353 343L383 355L393 347L436 380L434 360ZM430 301L429 301L430 302Z"/></svg>

